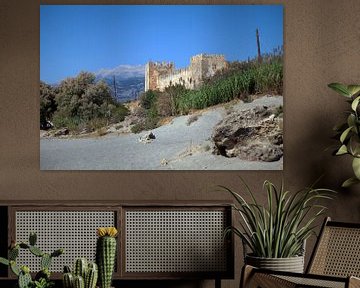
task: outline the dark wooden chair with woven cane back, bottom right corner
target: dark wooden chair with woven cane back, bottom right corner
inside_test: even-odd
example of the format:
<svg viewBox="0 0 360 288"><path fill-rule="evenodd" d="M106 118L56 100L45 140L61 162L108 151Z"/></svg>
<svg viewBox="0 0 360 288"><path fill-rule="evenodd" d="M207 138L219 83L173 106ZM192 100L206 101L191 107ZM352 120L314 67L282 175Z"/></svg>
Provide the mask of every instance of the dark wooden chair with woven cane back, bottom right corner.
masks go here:
<svg viewBox="0 0 360 288"><path fill-rule="evenodd" d="M241 288L360 287L360 224L326 218L306 273L244 266Z"/></svg>

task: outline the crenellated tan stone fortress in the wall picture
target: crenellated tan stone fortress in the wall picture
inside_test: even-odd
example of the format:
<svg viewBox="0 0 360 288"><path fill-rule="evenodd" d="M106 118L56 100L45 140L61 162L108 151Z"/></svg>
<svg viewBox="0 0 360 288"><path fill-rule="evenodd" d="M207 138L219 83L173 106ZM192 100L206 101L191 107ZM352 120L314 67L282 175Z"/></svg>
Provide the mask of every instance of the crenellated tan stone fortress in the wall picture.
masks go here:
<svg viewBox="0 0 360 288"><path fill-rule="evenodd" d="M224 55L198 54L190 59L190 66L175 69L174 62L148 62L145 66L145 91L164 89L171 85L184 85L187 89L200 87L216 71L226 69Z"/></svg>

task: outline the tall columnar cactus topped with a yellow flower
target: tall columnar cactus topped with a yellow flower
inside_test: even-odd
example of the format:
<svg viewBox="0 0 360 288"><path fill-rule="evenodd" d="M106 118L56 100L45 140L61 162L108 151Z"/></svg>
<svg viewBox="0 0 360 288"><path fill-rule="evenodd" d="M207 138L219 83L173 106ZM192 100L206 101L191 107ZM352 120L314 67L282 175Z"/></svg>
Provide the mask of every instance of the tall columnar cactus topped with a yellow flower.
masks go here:
<svg viewBox="0 0 360 288"><path fill-rule="evenodd" d="M96 243L96 262L99 267L100 288L110 288L116 258L115 227L98 228Z"/></svg>

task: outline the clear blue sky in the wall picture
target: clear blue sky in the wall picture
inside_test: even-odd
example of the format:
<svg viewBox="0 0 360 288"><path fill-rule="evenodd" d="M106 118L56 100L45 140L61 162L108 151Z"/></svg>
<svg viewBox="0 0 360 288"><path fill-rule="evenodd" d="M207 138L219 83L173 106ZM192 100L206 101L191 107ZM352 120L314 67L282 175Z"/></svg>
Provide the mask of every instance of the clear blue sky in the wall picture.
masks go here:
<svg viewBox="0 0 360 288"><path fill-rule="evenodd" d="M189 65L199 53L229 61L283 44L282 5L41 5L40 79L55 83L149 60Z"/></svg>

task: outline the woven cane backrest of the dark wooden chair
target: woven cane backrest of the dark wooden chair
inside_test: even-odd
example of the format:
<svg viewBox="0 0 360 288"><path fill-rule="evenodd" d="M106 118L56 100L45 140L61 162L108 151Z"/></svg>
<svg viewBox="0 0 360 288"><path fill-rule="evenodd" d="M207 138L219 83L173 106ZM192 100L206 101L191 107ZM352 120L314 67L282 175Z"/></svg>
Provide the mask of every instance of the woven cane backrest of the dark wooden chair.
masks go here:
<svg viewBox="0 0 360 288"><path fill-rule="evenodd" d="M360 224L325 219L307 273L360 277Z"/></svg>

